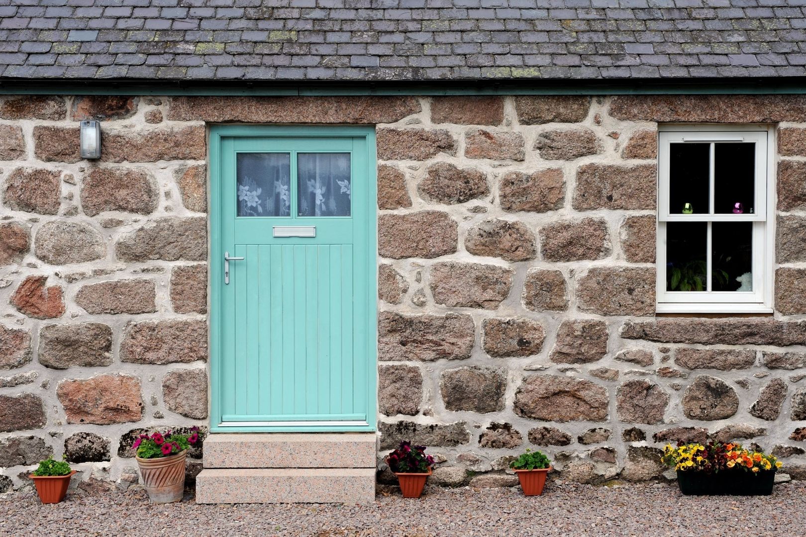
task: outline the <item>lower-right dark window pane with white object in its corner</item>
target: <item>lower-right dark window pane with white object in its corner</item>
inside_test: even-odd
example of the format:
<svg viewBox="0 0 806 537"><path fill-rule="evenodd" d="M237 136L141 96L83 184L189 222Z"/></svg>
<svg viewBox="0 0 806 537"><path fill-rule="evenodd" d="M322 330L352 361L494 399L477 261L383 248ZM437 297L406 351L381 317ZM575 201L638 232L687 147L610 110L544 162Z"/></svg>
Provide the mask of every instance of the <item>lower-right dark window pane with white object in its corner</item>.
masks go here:
<svg viewBox="0 0 806 537"><path fill-rule="evenodd" d="M753 222L713 222L713 291L753 291Z"/></svg>

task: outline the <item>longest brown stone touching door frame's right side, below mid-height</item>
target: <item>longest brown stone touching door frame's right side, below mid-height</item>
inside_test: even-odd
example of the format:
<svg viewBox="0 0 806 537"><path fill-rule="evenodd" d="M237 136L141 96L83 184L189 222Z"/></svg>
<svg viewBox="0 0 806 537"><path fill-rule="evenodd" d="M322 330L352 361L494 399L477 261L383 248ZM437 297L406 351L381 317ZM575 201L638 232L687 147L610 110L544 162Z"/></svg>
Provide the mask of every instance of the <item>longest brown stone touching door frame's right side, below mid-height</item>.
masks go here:
<svg viewBox="0 0 806 537"><path fill-rule="evenodd" d="M378 314L380 361L463 360L470 357L475 327L469 315Z"/></svg>

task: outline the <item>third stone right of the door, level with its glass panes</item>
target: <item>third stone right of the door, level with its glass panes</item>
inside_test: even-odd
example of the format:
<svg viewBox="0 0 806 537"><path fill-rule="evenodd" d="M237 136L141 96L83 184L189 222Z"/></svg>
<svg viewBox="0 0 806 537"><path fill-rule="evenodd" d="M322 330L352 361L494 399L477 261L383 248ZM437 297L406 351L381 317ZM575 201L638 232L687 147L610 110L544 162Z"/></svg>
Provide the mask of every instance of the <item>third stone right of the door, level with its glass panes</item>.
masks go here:
<svg viewBox="0 0 806 537"><path fill-rule="evenodd" d="M529 211L546 213L562 209L565 204L565 180L562 168L509 171L498 185L501 209L508 213Z"/></svg>

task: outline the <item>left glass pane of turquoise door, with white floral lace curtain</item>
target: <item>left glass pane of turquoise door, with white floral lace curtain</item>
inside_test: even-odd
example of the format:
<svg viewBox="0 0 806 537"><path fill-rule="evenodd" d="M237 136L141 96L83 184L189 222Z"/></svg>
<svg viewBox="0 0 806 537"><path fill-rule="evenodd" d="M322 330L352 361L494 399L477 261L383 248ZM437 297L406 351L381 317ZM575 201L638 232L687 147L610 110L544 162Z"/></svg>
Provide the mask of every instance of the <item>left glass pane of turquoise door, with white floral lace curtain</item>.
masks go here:
<svg viewBox="0 0 806 537"><path fill-rule="evenodd" d="M238 153L239 217L291 216L291 155L289 153Z"/></svg>

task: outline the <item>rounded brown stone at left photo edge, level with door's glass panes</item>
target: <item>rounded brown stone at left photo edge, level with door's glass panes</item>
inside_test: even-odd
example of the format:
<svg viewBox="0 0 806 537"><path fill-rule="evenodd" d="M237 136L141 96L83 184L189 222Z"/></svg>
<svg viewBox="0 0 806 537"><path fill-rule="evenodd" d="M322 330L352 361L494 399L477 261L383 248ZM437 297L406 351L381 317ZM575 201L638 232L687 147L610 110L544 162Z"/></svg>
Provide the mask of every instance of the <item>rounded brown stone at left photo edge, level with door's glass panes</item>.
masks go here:
<svg viewBox="0 0 806 537"><path fill-rule="evenodd" d="M56 214L61 206L61 171L18 167L3 184L3 203L27 213Z"/></svg>

